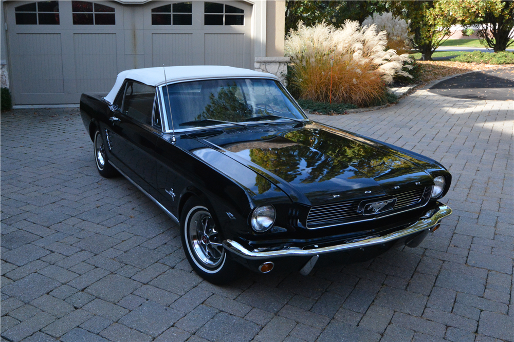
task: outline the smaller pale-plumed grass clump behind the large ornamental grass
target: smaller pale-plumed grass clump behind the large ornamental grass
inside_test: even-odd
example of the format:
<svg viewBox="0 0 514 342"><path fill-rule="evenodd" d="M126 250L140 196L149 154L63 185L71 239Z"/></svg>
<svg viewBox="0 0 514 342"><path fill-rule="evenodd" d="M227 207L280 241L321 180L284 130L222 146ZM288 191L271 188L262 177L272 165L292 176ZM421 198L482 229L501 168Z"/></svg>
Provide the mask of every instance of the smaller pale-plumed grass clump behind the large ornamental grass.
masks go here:
<svg viewBox="0 0 514 342"><path fill-rule="evenodd" d="M410 21L406 22L392 13L374 13L362 22L362 26L371 27L375 24L379 31L387 32L388 44L386 49L396 50L397 54L409 53L411 50L412 34L409 31Z"/></svg>

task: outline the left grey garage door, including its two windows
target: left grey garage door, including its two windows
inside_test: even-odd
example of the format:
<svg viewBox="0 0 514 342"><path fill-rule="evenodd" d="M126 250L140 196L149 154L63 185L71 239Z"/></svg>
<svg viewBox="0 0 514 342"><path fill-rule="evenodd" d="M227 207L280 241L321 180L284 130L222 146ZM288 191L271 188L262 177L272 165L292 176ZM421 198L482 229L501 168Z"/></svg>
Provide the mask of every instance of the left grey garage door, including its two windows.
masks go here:
<svg viewBox="0 0 514 342"><path fill-rule="evenodd" d="M123 7L114 2L12 2L7 8L14 103L78 103L124 69Z"/></svg>

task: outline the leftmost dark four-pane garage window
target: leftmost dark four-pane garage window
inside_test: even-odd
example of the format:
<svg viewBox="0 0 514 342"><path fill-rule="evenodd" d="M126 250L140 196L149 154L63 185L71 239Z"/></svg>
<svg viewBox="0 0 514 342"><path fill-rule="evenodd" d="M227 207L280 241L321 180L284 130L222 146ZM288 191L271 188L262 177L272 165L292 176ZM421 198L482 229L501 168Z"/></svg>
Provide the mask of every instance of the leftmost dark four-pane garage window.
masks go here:
<svg viewBox="0 0 514 342"><path fill-rule="evenodd" d="M59 25L59 2L40 1L14 8L16 25Z"/></svg>

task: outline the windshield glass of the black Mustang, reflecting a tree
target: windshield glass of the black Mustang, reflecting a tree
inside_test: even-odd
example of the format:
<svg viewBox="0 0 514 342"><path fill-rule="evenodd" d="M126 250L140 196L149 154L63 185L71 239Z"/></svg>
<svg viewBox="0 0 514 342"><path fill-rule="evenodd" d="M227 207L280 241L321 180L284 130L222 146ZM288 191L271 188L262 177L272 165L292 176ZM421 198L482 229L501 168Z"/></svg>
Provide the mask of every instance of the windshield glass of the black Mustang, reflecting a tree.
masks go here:
<svg viewBox="0 0 514 342"><path fill-rule="evenodd" d="M260 120L306 119L272 79L210 79L162 87L164 107L175 129ZM169 93L169 95L168 95ZM171 126L171 124L170 124Z"/></svg>

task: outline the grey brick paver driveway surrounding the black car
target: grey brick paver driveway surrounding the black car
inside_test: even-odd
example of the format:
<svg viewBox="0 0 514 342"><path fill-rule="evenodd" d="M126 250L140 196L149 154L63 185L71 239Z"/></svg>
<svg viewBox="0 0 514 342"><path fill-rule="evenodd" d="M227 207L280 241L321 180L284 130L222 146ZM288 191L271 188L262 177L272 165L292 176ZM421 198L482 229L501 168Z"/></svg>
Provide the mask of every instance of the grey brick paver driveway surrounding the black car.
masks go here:
<svg viewBox="0 0 514 342"><path fill-rule="evenodd" d="M512 113L513 102L420 90L315 117L440 160L453 215L418 248L226 287L192 273L177 226L149 199L98 175L76 109L4 113L2 337L512 341Z"/></svg>

